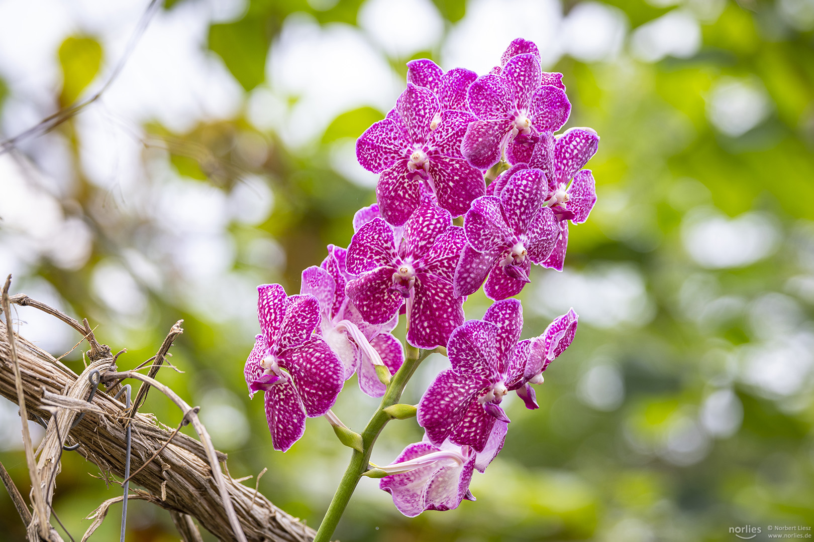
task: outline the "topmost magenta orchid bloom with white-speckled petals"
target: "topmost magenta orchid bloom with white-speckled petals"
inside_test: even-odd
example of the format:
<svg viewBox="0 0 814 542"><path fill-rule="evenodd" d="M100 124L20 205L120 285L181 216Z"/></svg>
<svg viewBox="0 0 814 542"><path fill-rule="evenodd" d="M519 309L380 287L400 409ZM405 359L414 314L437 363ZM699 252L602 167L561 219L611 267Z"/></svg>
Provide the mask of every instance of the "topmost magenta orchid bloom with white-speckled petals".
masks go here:
<svg viewBox="0 0 814 542"><path fill-rule="evenodd" d="M513 53L510 46L505 55ZM472 166L488 169L504 154L509 163L527 162L540 134L566 123L571 102L562 74L543 72L539 57L536 47L513 54L470 85L466 100L478 120L466 128L461 152Z"/></svg>

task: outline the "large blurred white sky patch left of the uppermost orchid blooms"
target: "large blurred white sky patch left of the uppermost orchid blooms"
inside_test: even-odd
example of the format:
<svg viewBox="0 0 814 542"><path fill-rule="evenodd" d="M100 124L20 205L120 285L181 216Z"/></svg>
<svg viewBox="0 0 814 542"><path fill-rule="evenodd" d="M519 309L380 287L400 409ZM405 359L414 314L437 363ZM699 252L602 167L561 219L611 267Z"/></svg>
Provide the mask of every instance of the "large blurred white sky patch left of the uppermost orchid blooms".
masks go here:
<svg viewBox="0 0 814 542"><path fill-rule="evenodd" d="M321 136L345 111L361 106L389 111L405 85L357 28L321 27L304 13L283 23L266 76L275 94L295 98L280 128L283 141L293 147Z"/></svg>

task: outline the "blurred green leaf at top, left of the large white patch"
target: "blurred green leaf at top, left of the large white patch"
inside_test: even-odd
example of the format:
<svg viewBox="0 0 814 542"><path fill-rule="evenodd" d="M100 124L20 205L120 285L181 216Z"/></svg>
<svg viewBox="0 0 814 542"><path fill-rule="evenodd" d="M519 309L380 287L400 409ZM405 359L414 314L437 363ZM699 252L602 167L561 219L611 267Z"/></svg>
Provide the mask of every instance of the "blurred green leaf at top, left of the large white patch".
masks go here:
<svg viewBox="0 0 814 542"><path fill-rule="evenodd" d="M243 89L252 90L265 80L265 57L271 40L265 19L255 16L209 27L209 49L220 55Z"/></svg>

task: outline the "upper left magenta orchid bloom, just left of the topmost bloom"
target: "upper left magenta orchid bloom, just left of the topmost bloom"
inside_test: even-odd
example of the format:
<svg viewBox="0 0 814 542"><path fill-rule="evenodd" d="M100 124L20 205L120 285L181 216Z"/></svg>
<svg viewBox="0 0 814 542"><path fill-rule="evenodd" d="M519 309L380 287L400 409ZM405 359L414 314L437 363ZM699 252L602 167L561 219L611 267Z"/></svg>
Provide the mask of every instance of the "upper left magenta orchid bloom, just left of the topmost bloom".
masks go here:
<svg viewBox="0 0 814 542"><path fill-rule="evenodd" d="M376 199L387 222L400 226L409 219L421 204L421 184L454 216L484 195L483 173L461 154L466 125L474 120L466 111L442 111L431 89L408 83L395 109L359 137L359 163L381 174Z"/></svg>

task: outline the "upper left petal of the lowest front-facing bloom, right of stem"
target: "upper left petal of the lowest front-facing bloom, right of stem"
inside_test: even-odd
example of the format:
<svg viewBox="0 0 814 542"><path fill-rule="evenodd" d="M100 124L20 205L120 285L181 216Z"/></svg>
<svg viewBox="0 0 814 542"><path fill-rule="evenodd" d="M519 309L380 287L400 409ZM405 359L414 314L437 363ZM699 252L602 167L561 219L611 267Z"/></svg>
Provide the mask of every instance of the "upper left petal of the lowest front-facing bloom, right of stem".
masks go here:
<svg viewBox="0 0 814 542"><path fill-rule="evenodd" d="M499 327L484 320L468 320L449 337L447 355L453 371L497 381L496 343Z"/></svg>

